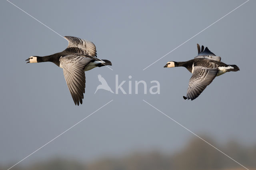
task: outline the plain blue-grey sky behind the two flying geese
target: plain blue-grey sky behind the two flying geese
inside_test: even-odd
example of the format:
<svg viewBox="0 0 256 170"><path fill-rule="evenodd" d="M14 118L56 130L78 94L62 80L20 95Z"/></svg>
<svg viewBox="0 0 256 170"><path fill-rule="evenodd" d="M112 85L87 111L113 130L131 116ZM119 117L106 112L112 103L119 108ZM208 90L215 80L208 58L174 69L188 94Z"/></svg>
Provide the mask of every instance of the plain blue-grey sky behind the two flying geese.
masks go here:
<svg viewBox="0 0 256 170"><path fill-rule="evenodd" d="M62 36L94 42L98 57L112 61L113 71L107 67L87 71L85 99L75 106L62 69L53 63L25 62L31 55L60 52L68 42L2 0L0 164L18 162L111 100L22 164L54 156L90 161L138 149L175 152L193 137L142 99L215 142L232 138L242 144L256 143L255 1L248 1L144 71L245 1L11 2ZM191 73L185 68L163 66L167 61L193 59L196 43L221 56L222 62L238 65L240 71L217 77L197 99L185 101L182 96ZM100 84L98 74L113 90L116 75L119 81L126 81L126 92L128 81L132 81L132 94L104 90L94 94ZM150 81L159 81L160 94L144 95L142 87L138 95L134 94L136 80L146 81L148 90Z"/></svg>

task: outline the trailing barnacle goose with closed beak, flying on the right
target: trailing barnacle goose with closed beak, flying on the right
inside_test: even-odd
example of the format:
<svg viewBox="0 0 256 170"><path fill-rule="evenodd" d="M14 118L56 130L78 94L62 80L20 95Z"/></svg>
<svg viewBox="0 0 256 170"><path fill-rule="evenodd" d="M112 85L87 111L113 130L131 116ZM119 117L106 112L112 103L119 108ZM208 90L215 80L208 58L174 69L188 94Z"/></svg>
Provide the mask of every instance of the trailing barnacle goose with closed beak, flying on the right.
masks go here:
<svg viewBox="0 0 256 170"><path fill-rule="evenodd" d="M183 98L194 100L202 91L212 83L216 76L222 75L229 71L240 70L237 65L227 65L220 61L220 57L212 53L208 47L200 49L197 44L198 55L189 61L176 62L169 61L164 67L186 67L192 73L192 77L188 83L187 96Z"/></svg>

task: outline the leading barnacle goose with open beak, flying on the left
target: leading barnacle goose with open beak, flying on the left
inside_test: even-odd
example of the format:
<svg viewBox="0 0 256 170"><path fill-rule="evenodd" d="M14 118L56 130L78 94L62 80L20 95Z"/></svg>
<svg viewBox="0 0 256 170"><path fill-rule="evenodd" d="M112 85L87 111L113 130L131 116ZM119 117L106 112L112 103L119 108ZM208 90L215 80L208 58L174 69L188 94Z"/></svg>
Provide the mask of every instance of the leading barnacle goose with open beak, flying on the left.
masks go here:
<svg viewBox="0 0 256 170"><path fill-rule="evenodd" d="M68 47L59 53L43 57L31 56L27 63L40 63L50 61L63 69L68 89L75 105L82 104L85 93L85 73L94 67L112 65L106 59L98 59L94 43L76 37L65 36Z"/></svg>

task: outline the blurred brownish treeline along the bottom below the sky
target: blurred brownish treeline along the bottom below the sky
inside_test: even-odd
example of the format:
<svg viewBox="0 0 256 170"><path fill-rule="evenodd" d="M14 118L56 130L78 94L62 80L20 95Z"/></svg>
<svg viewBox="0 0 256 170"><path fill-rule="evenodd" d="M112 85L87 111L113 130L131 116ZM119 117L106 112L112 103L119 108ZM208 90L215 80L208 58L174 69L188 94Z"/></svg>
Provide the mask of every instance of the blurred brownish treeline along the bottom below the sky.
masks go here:
<svg viewBox="0 0 256 170"><path fill-rule="evenodd" d="M256 170L256 145L243 146L235 141L216 144L210 138L204 139L228 154L250 170ZM171 142L170 142L171 143ZM125 155L125 154L124 154ZM29 158L28 158L29 159ZM12 166L12 165L10 165ZM9 166L9 167L10 167ZM7 170L9 167L1 167ZM214 149L199 138L192 138L188 144L175 153L164 154L157 150L136 151L119 157L104 157L93 162L54 158L26 167L19 165L12 170L244 170L242 166Z"/></svg>

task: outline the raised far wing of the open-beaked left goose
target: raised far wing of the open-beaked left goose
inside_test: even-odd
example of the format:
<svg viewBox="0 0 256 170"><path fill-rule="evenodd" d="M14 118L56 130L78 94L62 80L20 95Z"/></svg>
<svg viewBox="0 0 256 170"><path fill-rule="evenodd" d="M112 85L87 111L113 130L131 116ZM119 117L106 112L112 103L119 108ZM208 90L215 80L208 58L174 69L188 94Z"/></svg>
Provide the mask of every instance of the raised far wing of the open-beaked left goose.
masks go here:
<svg viewBox="0 0 256 170"><path fill-rule="evenodd" d="M93 42L72 36L65 36L64 38L68 40L68 47L65 49L65 51L97 57L96 47Z"/></svg>

